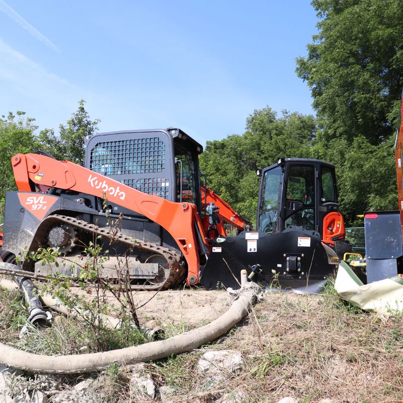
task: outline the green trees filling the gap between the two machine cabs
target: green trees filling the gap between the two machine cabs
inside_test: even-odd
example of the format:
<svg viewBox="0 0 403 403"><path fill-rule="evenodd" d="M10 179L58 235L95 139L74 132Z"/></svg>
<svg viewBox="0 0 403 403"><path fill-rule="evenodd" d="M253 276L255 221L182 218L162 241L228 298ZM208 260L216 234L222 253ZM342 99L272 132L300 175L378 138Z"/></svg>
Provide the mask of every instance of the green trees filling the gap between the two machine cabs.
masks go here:
<svg viewBox="0 0 403 403"><path fill-rule="evenodd" d="M209 186L238 213L255 221L259 178L256 169L275 163L279 157L309 157L315 136L311 115L270 107L256 109L246 119L242 136L207 142L200 156L200 169Z"/></svg>

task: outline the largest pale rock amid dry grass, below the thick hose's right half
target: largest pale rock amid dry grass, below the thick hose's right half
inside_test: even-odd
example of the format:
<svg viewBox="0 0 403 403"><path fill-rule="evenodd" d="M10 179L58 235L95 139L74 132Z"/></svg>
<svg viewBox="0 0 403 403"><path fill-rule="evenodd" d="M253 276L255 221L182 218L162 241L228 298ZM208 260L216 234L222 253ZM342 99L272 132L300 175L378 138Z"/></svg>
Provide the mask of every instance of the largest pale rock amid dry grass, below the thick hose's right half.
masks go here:
<svg viewBox="0 0 403 403"><path fill-rule="evenodd" d="M238 375L243 366L244 361L238 351L212 350L201 356L197 363L197 370L202 373L218 373L224 369Z"/></svg>

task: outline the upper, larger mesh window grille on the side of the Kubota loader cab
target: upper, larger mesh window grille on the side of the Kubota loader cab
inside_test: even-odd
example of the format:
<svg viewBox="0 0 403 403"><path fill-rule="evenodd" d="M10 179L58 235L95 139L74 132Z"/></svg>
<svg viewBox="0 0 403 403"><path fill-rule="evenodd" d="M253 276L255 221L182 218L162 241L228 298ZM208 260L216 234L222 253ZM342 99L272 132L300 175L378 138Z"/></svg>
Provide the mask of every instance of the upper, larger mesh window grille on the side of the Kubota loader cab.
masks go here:
<svg viewBox="0 0 403 403"><path fill-rule="evenodd" d="M98 143L90 169L102 175L156 173L165 169L165 144L158 137Z"/></svg>

